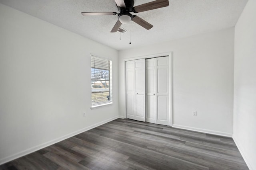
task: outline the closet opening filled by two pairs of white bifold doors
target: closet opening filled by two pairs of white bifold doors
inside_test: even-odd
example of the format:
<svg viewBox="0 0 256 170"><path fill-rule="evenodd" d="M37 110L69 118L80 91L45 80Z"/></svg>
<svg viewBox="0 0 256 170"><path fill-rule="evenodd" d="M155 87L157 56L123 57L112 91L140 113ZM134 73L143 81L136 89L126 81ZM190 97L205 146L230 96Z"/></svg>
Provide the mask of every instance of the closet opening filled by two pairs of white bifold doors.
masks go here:
<svg viewBox="0 0 256 170"><path fill-rule="evenodd" d="M170 124L169 55L126 61L126 117Z"/></svg>

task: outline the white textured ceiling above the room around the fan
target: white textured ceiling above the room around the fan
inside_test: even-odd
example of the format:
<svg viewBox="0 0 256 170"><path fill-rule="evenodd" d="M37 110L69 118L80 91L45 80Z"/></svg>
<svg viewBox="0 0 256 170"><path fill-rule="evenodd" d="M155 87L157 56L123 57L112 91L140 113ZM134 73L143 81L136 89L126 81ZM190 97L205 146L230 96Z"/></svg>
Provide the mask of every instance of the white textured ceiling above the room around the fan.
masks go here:
<svg viewBox="0 0 256 170"><path fill-rule="evenodd" d="M134 6L153 0L134 0ZM81 12L118 12L114 0L0 0L0 3L114 49L169 41L216 31L236 24L248 0L169 0L169 6L137 13L154 27L131 22L129 32L110 33L117 16L82 16ZM129 31L129 24L122 25Z"/></svg>

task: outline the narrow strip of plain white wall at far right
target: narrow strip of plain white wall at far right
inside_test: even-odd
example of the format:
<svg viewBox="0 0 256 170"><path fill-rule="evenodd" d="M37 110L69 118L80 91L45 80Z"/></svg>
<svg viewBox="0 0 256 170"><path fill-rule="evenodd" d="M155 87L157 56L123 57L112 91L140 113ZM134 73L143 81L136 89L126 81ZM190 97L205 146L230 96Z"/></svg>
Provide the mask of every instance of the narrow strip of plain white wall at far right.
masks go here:
<svg viewBox="0 0 256 170"><path fill-rule="evenodd" d="M249 0L235 27L234 136L256 170L256 1Z"/></svg>

